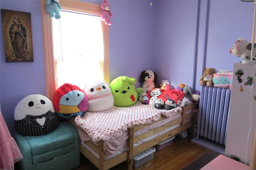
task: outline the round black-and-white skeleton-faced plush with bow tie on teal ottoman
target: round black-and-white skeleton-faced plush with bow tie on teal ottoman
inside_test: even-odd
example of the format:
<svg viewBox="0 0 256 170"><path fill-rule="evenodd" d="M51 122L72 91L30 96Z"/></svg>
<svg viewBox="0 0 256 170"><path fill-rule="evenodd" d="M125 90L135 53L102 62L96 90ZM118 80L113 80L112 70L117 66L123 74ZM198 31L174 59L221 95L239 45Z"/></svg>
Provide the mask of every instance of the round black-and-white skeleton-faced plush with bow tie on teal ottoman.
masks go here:
<svg viewBox="0 0 256 170"><path fill-rule="evenodd" d="M59 119L54 105L43 95L28 95L15 107L14 126L24 136L48 134L58 125Z"/></svg>

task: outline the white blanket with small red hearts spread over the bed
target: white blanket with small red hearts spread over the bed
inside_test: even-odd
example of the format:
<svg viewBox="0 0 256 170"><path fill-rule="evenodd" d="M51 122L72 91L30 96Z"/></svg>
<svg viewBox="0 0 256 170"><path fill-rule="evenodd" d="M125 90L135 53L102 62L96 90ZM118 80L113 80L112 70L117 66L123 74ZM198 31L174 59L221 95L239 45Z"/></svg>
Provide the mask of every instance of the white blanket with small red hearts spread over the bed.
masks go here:
<svg viewBox="0 0 256 170"><path fill-rule="evenodd" d="M115 107L100 112L87 112L84 117L77 116L75 122L82 127L94 142L121 138L127 133L128 127L152 123L161 115L171 117L182 107L172 110L156 109L137 101L130 107Z"/></svg>

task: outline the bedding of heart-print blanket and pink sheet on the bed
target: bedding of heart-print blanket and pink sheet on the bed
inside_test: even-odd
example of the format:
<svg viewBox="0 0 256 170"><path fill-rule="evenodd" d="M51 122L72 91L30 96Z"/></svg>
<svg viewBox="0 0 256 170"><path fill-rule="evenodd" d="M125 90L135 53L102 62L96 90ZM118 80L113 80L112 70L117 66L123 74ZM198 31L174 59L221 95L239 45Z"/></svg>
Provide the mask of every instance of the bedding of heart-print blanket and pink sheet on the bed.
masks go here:
<svg viewBox="0 0 256 170"><path fill-rule="evenodd" d="M110 155L116 153L125 144L128 138L128 127L152 123L152 121L158 120L161 115L168 117L168 119L139 130L134 134L137 135L142 131L162 126L181 117L181 114L177 114L180 110L182 110L181 107L172 110L156 109L150 105L137 102L131 107L113 106L111 109L102 112L87 112L82 118L77 116L75 122L88 135L78 130L82 142L86 140L94 142L104 140L104 152Z"/></svg>

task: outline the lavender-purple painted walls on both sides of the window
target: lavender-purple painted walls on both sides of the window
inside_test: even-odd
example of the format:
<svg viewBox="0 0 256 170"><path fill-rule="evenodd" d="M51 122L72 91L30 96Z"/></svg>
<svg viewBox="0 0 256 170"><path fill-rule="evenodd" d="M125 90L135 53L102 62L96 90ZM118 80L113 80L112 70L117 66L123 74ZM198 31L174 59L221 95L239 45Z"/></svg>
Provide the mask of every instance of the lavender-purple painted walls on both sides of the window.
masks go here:
<svg viewBox="0 0 256 170"><path fill-rule="evenodd" d="M101 0L87 0L101 4ZM141 71L156 71L159 82L200 89L204 67L233 69L239 57L228 53L238 37L250 41L253 3L239 0L108 0L111 3L110 81L126 75L139 80ZM13 133L14 109L30 94L46 95L42 23L38 0L0 0L0 7L31 13L33 63L6 63L0 25L0 101ZM207 18L207 14L209 14ZM136 87L140 87L136 83Z"/></svg>

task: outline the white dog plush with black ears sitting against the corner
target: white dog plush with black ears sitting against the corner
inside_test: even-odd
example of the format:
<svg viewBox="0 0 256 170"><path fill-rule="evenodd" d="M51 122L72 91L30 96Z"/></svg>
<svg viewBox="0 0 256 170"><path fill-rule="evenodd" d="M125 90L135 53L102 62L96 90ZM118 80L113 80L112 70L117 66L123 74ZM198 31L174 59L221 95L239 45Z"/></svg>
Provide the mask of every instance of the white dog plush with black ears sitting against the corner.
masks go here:
<svg viewBox="0 0 256 170"><path fill-rule="evenodd" d="M155 84L157 84L156 72L151 70L142 71L140 74L140 83L142 83L142 89L145 93L154 89Z"/></svg>

